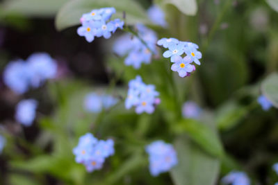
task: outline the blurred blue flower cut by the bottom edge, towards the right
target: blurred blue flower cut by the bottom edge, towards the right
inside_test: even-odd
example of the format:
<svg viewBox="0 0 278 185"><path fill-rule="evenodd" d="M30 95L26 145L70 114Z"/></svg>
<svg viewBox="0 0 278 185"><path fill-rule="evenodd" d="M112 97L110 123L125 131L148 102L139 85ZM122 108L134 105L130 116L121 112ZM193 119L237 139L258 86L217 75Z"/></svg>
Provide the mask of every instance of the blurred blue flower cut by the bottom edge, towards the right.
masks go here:
<svg viewBox="0 0 278 185"><path fill-rule="evenodd" d="M224 184L232 185L250 185L250 179L244 172L231 171L228 175L222 178Z"/></svg>

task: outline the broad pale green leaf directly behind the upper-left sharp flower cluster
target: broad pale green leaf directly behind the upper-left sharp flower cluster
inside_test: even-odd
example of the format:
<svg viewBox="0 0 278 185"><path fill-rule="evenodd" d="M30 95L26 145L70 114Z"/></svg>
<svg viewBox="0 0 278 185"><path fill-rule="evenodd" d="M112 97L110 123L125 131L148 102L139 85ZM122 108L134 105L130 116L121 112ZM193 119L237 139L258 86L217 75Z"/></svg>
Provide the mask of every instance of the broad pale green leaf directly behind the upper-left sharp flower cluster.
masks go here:
<svg viewBox="0 0 278 185"><path fill-rule="evenodd" d="M56 17L56 28L63 30L80 24L81 16L95 8L114 7L113 18L122 18L126 12L126 24L149 23L145 10L133 0L72 0L60 9Z"/></svg>

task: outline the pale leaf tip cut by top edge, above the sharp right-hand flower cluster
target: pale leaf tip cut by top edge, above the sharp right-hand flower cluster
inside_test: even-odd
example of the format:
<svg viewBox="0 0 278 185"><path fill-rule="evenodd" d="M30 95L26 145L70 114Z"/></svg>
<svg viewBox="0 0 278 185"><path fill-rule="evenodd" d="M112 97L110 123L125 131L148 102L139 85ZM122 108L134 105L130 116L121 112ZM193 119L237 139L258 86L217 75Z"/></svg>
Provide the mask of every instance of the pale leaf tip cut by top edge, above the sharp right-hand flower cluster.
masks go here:
<svg viewBox="0 0 278 185"><path fill-rule="evenodd" d="M176 6L185 15L196 15L197 13L196 0L164 0L163 3Z"/></svg>

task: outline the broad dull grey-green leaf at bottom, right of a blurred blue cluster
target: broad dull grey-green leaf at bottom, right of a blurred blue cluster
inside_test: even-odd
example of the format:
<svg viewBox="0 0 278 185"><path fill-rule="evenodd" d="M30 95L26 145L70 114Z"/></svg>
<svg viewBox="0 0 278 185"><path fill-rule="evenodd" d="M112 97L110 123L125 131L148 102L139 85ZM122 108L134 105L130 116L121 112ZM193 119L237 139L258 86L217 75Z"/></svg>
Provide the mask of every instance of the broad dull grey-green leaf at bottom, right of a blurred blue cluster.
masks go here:
<svg viewBox="0 0 278 185"><path fill-rule="evenodd" d="M207 155L186 137L174 141L179 163L170 175L175 185L213 185L218 179L220 162Z"/></svg>

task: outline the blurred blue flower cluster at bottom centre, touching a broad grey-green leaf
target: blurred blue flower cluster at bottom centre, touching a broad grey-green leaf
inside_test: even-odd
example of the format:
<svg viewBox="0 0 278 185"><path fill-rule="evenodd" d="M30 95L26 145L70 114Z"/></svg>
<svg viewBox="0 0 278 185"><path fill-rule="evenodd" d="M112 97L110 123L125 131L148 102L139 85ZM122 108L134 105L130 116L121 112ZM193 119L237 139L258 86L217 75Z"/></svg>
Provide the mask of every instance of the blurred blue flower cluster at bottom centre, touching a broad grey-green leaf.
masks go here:
<svg viewBox="0 0 278 185"><path fill-rule="evenodd" d="M153 176L167 172L177 165L177 153L171 144L154 141L146 147L149 154L149 171Z"/></svg>

